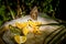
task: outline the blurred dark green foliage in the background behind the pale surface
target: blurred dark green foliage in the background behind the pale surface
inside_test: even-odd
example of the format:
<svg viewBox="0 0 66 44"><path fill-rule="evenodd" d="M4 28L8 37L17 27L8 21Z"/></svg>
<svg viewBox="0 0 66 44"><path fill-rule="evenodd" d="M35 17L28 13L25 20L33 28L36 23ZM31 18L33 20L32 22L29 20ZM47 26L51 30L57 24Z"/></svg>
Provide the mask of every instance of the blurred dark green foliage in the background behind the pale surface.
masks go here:
<svg viewBox="0 0 66 44"><path fill-rule="evenodd" d="M53 18L59 13L59 0L0 0L0 25L15 19L18 8L22 10L22 16L29 14L35 6L40 12L48 13Z"/></svg>

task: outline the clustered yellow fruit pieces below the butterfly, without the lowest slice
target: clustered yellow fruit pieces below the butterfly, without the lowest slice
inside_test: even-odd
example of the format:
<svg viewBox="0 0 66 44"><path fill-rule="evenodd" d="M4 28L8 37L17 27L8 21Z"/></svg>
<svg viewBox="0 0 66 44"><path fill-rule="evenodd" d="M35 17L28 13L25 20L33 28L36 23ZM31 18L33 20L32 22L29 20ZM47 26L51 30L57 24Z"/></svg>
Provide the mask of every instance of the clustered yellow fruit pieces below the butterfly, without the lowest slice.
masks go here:
<svg viewBox="0 0 66 44"><path fill-rule="evenodd" d="M28 22L19 23L16 22L15 25L22 30L23 34L26 35L30 31L33 33L37 34L40 33L40 25L42 24L41 22L33 22L32 20L29 20ZM29 28L30 26L30 28Z"/></svg>

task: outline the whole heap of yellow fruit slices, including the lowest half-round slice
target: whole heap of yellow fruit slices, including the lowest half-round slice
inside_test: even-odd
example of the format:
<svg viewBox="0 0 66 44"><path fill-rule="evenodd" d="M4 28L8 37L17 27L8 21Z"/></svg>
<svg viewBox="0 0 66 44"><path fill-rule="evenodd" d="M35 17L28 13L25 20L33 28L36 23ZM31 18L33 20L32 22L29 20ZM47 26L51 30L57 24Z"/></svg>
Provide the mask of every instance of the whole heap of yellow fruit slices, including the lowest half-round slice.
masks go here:
<svg viewBox="0 0 66 44"><path fill-rule="evenodd" d="M15 26L24 34L24 35L14 35L14 41L19 44L24 43L26 41L26 35L29 32L32 32L34 34L40 34L40 26L38 24L42 24L41 22L37 21L32 21L29 20L28 22L15 22Z"/></svg>

